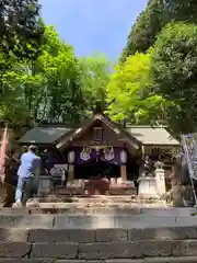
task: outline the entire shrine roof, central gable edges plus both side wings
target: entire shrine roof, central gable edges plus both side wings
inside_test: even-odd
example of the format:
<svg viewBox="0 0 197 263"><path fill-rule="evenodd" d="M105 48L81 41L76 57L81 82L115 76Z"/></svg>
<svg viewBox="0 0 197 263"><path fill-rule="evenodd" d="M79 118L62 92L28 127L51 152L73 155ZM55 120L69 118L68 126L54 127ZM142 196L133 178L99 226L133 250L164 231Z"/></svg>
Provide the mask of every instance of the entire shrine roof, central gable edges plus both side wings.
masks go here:
<svg viewBox="0 0 197 263"><path fill-rule="evenodd" d="M68 126L37 126L26 132L19 140L20 144L36 144L36 145L56 145L58 148L71 141L76 136L84 133L90 125L96 119L101 119L106 125L111 126L115 133L121 133L125 138L136 145L153 145L153 146L179 146L179 142L172 138L170 133L163 126L141 126L131 125L123 128L103 115L94 115L89 118L81 127L71 128Z"/></svg>

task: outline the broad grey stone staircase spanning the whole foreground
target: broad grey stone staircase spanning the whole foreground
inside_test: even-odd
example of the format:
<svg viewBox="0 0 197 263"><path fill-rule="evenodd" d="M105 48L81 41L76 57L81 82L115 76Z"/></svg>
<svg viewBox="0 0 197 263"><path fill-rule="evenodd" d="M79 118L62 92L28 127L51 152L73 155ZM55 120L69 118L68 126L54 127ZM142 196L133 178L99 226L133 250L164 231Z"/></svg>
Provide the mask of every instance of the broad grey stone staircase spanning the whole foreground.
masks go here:
<svg viewBox="0 0 197 263"><path fill-rule="evenodd" d="M28 215L1 209L0 262L196 263L195 208L141 208L132 215Z"/></svg>

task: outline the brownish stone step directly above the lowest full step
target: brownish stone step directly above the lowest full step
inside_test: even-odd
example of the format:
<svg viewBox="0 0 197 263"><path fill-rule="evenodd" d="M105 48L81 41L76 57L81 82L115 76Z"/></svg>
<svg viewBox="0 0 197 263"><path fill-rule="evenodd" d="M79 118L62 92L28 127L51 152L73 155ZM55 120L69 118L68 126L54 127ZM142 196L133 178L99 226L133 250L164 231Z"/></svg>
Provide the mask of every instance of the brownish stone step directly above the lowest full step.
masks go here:
<svg viewBox="0 0 197 263"><path fill-rule="evenodd" d="M163 227L131 229L26 229L0 228L0 244L2 242L132 242L150 240L193 240L197 241L197 227Z"/></svg>

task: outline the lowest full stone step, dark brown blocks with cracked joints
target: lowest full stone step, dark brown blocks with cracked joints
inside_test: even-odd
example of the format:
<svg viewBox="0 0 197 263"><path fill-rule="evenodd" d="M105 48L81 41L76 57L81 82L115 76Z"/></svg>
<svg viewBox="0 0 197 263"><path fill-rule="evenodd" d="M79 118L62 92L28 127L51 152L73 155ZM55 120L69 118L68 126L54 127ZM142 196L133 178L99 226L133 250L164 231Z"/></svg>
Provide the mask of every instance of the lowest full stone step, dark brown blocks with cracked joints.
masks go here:
<svg viewBox="0 0 197 263"><path fill-rule="evenodd" d="M197 240L131 240L131 241L93 241L89 243L73 241L58 242L0 242L1 258L63 260L70 262L129 262L129 260L144 260L158 262L155 258L197 256ZM155 260L154 260L155 259ZM116 261L115 261L116 260ZM127 261L126 261L127 260ZM152 260L152 261L151 261ZM161 259L160 259L161 260ZM164 259L163 259L164 260ZM188 258L187 258L188 260ZM163 261L163 263L166 261ZM177 262L177 261L176 261ZM181 261L184 262L184 261ZM139 263L139 262L138 262Z"/></svg>

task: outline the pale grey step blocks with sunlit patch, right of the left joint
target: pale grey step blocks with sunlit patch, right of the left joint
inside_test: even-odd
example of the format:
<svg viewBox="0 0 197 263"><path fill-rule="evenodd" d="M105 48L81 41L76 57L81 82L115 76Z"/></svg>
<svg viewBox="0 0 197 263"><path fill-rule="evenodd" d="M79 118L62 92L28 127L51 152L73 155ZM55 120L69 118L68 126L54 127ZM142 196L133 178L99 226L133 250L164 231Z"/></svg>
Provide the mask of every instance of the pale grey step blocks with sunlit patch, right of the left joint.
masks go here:
<svg viewBox="0 0 197 263"><path fill-rule="evenodd" d="M197 226L194 217L162 217L162 216L58 216L55 228L100 229L100 228L154 228L167 226Z"/></svg>

